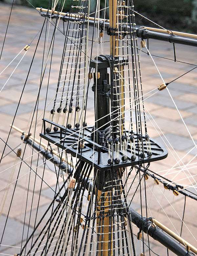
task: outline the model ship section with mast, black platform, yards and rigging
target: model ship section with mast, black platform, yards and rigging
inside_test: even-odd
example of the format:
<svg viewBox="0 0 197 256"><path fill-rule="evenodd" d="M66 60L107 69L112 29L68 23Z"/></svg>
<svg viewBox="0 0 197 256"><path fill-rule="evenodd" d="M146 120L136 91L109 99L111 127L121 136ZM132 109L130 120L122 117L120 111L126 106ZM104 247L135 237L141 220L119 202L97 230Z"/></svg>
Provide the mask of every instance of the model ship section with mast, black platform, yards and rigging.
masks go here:
<svg viewBox="0 0 197 256"><path fill-rule="evenodd" d="M36 35L35 53L41 36L45 35L46 39L37 98L25 131L14 125L18 107L15 110L1 156L2 161L9 147L11 131L18 131L21 143L18 148L10 148L16 160L10 164L12 172L7 185L10 188L14 184L13 195L8 198L7 192L3 194L1 212L5 201L9 201L10 208L13 205L16 184L24 166L35 176L38 168L43 170L43 176L39 173L34 186L39 179L46 183L44 172L49 163L49 169L56 175L55 187L51 188L53 198L42 216L37 217L38 200L36 216L24 217L29 227L33 218L33 228L22 236L21 246L14 248L14 255L196 255L195 244L184 239L182 234L182 228L186 226L184 214L189 214L186 213L189 209L183 206L181 217L182 213L177 213L181 233L173 232L167 227L168 222L161 223L150 214L146 194L150 184L154 184L164 197L173 195L174 200L185 197L185 202L193 200L196 204L197 195L161 175L160 170L151 170L151 164L157 161L159 165L168 156L168 150L149 136L151 113L145 100L163 90L172 98L168 83L149 51L148 40L171 43L175 50L175 44L197 46L197 35L161 27L137 26L137 12L132 0L105 2L102 17L99 1L93 13L90 13L89 0L72 0L67 13L63 12L64 4L65 1L50 1L49 6L36 8L43 23ZM51 96L48 89L53 77L51 65L57 32L62 33L64 42L59 53L60 68L55 91ZM28 44L24 47L24 55L30 47ZM148 54L161 77L161 84L146 93L143 93L142 52ZM27 79L29 73L31 66ZM41 116L42 128L40 137L36 137L34 128L43 83L47 89ZM181 116L176 104L175 108ZM89 118L90 112L94 118ZM16 139L20 140L20 137ZM26 155L28 146L32 148L30 156ZM40 163L39 157L43 162ZM33 159L37 159L34 161L36 166L32 165ZM181 159L177 165L182 168ZM13 178L14 172L16 179ZM25 200L26 204L33 201L28 195ZM163 209L157 194L153 194L151 200ZM138 211L134 207L136 201L140 205ZM4 244L10 208L2 226L0 247ZM168 212L163 210L168 217ZM163 248L161 253L154 252L152 243Z"/></svg>

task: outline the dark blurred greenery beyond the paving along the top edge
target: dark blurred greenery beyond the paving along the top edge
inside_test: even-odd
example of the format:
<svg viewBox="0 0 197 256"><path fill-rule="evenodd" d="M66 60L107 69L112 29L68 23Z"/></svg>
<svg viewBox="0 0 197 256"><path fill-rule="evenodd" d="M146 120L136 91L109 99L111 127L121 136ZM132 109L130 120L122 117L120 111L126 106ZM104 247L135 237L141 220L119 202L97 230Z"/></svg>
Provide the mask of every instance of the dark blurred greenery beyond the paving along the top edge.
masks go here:
<svg viewBox="0 0 197 256"><path fill-rule="evenodd" d="M96 0L91 0L91 12L95 10ZM0 2L11 3L12 0L0 0ZM63 1L62 1L63 2ZM48 0L15 0L15 4L32 7L47 8ZM67 0L64 11L69 10L71 0ZM104 8L105 0L100 0ZM144 16L167 27L168 29L196 32L197 24L197 0L134 0L135 10ZM150 25L144 18L137 18L138 25ZM151 24L152 26L152 24Z"/></svg>

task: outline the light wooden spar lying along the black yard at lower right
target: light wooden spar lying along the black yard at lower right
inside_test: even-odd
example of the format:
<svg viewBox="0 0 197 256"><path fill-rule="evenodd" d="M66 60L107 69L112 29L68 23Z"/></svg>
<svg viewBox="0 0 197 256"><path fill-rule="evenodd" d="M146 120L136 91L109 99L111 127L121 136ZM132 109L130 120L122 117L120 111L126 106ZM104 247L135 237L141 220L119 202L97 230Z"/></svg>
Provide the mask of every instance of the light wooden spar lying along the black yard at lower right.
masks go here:
<svg viewBox="0 0 197 256"><path fill-rule="evenodd" d="M155 223L156 226L158 226L159 228L161 228L165 233L167 233L168 235L170 235L171 237L173 237L175 240L177 240L178 242L180 242L183 245L188 245L190 247L190 250L194 253L197 254L197 248L194 247L193 245L191 245L190 243L188 243L185 239L183 239L182 237L180 237L179 235L177 235L176 233L174 233L172 230L170 230L169 228L167 228L166 226L164 226L161 222L159 222L156 219L150 219L151 222Z"/></svg>

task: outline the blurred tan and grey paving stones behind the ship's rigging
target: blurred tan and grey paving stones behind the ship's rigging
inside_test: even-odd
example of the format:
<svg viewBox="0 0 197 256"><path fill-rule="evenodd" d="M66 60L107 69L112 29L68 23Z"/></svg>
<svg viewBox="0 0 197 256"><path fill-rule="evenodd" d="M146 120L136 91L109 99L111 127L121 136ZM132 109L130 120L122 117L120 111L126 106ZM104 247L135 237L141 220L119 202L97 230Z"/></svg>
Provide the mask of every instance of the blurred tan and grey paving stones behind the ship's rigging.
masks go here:
<svg viewBox="0 0 197 256"><path fill-rule="evenodd" d="M10 6L0 5L0 33L3 38L3 35L6 30L6 24L9 17ZM13 57L26 45L29 44L37 32L41 29L43 18L39 16L36 10L27 9L23 7L14 7L10 26L8 29L8 35L5 42L4 51L2 54L2 59L0 62L0 72L3 70L6 65L13 59ZM61 25L60 25L61 26ZM58 44L55 45L54 48L54 57L53 57L53 77L50 81L49 87L49 96L54 94L55 83L58 75L58 68L60 63L60 56L62 52L63 46L63 35L59 32L56 34L56 42ZM32 60L33 52L35 50L35 43L37 39L33 41L30 50L25 55L24 59L21 61L18 68L15 70L13 75L11 76L8 83L5 85L3 91L0 93L0 137L3 140L7 139L10 127L9 125L12 122L13 114L16 110L17 103L19 101L21 90L24 85L24 81L27 77L27 72L30 67L30 62ZM42 48L43 48L44 38L41 38L41 44L37 50L35 60L33 62L32 71L29 76L27 86L23 93L23 97L21 99L20 107L17 111L17 117L14 122L14 125L20 127L20 129L25 130L27 128L27 123L30 120L30 115L32 111L32 107L34 101L36 99L36 93L39 86L40 80L40 68L42 61ZM2 45L2 44L1 44ZM173 58L173 46L169 43L161 43L157 41L149 42L149 49L152 54L164 56L166 58ZM22 56L22 55L20 55ZM192 64L197 64L197 53L195 48L186 47L186 46L176 46L176 57L177 60L188 62ZM6 69L6 71L0 76L0 84L2 87L6 80L9 78L13 68L16 66L20 58L17 58L16 61L13 61L11 66ZM192 65L173 62L172 60L162 59L158 57L154 57L159 70L166 82L170 82L171 80L177 78L179 75L182 75L189 69L191 69ZM184 118L184 121L187 125L189 133L192 135L193 139L197 140L197 76L196 70L190 72L186 76L172 82L168 88L169 91L178 106L181 115ZM158 73L150 60L150 56L142 53L142 80L143 80L143 89L144 92L148 92L154 89L158 84L161 84L161 79L158 76ZM43 103L45 99L46 92L46 83L43 83L43 88L41 89L40 94L40 103L38 105L38 123L36 124L36 136L39 137L39 132L41 130L41 114L43 110ZM154 117L156 123L152 121L148 121L148 130L149 134L153 138L157 138L161 143L166 143L169 147L169 155L165 160L160 161L159 163L153 163L151 165L151 169L153 171L160 171L161 174L165 174L167 169L171 168L177 161L179 161L185 154L192 149L194 146L188 131L186 130L178 112L175 109L175 106L170 99L168 92L166 90L156 93L154 96L147 98L145 100L145 107ZM88 114L91 118L93 116L93 112L91 110L91 106L88 108ZM157 129L153 127L156 126ZM34 125L34 124L33 124ZM160 127L160 129L157 127ZM162 135L164 141L160 138L159 135ZM167 140L164 138L167 138ZM20 134L14 130L11 131L11 136L8 141L8 145L16 147L20 144ZM170 147L175 149L173 149ZM0 150L2 151L4 143L0 142ZM32 152L31 148L28 149L29 154ZM10 150L6 149L6 153ZM189 154L186 155L181 162L187 164L197 153L197 149L194 148L191 150ZM15 161L15 156L13 153L9 154L7 157L3 159L2 166L0 168L0 199L3 198L3 194L6 193L4 187L9 183L9 177L12 173L12 168L6 170L10 166L13 165ZM196 162L195 159L193 162ZM39 162L42 163L42 160ZM183 164L182 163L182 164ZM36 166L36 160L33 161L33 167ZM16 168L17 169L17 168ZM4 171L6 170L6 171ZM173 173L167 175L168 178L173 178L174 181L185 185L196 184L196 165L193 168L190 168L187 171L182 171L178 173L177 177L175 175L177 173ZM176 171L176 169L175 169ZM28 197L32 199L33 190L34 198L33 198L33 207L31 208L31 201L29 200L27 205L27 216L26 216L26 224L28 224L28 216L30 212L32 216L34 216L37 201L39 197L39 187L40 187L40 179L37 178L36 186L34 185L35 175L31 173L31 176L28 174L27 167L23 166L22 173L20 174L21 178L17 184L17 192L13 198L12 208L8 218L8 225L6 230L5 240L2 242L3 244L11 244L20 247L19 241L21 240L20 234L23 228L23 225L20 221L24 219L24 201L23 199L27 196L27 187L29 183L29 195ZM42 168L38 168L37 170L39 175L42 175ZM172 172L171 172L172 173ZM26 174L26 175L25 175ZM24 176L23 176L24 175ZM13 180L17 176L17 171L13 170ZM189 176L189 178L186 178ZM191 177L193 176L193 177ZM30 182L29 182L30 180ZM46 169L44 174L44 180L50 185L54 186L56 183L56 176L49 169ZM149 208L152 212L152 215L158 218L161 222L167 225L172 230L180 233L181 227L181 217L183 215L183 206L184 206L184 197L178 196L174 197L172 192L164 191L162 186L156 186L150 180L147 182L147 202L149 202ZM9 195L13 191L14 184L11 185L9 190ZM152 194L152 192L154 194ZM164 192L164 194L162 193ZM50 188L46 184L42 186L41 192L41 200L40 200L40 210L39 215L42 216L42 213L47 208L53 194L51 193ZM10 197L11 198L11 197ZM11 199L10 199L11 200ZM0 230L2 230L3 225L5 223L5 216L8 212L8 208L10 205L10 200L5 202L5 207L2 212L1 222L0 222ZM161 209L160 204L163 209ZM140 201L139 198L135 198L135 206L136 209L139 208ZM196 245L196 240L194 237L197 235L197 224L194 221L196 216L197 204L196 201L187 199L186 200L186 209L187 214L185 215L184 221L186 226L183 227L183 238L189 240L191 243ZM145 215L145 208L143 208L143 213ZM166 217L166 214L170 216L170 219ZM150 216L150 212L148 209L148 216ZM30 227L33 228L33 219L30 221ZM27 232L27 226L25 226L25 233ZM31 232L31 230L29 231ZM193 236L191 235L193 234ZM160 256L165 255L164 248L162 246L158 246L156 242L153 242L153 249ZM16 253L15 249L8 248L6 246L2 246L0 248L1 253L4 255L12 255ZM173 255L173 254L169 254Z"/></svg>

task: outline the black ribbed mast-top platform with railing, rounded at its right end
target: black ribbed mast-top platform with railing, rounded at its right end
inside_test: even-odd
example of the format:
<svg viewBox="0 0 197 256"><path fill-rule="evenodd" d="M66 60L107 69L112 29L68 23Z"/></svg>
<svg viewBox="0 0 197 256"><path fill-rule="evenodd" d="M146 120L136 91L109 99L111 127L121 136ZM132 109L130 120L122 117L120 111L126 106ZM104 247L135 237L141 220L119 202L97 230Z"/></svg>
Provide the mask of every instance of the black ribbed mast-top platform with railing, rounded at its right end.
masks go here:
<svg viewBox="0 0 197 256"><path fill-rule="evenodd" d="M123 152L120 150L120 162L118 164L115 163L115 156L113 159L113 164L108 164L108 151L106 147L99 145L91 140L91 134L94 133L93 126L86 126L84 128L84 134L80 133L80 129L68 129L64 126L58 125L53 121L48 119L43 119L44 121L44 132L40 134L42 138L49 141L52 144L62 148L67 153L72 154L73 156L77 156L77 158L81 158L84 162L93 165L96 169L107 171L111 168L118 169L124 168L128 166L139 165L143 163L150 163L154 161L159 161L167 157L168 151L161 144L157 143L154 139L150 139L152 156L149 157L147 155L147 146L145 142L145 137L142 136L143 140L143 157L139 154L138 147L138 139L137 134L132 134L135 139L135 155L134 159L132 156L132 149L128 143L129 137L131 133L126 131L127 136L127 159L122 160ZM59 131L57 132L46 132L46 123L50 124L52 127L58 127Z"/></svg>

